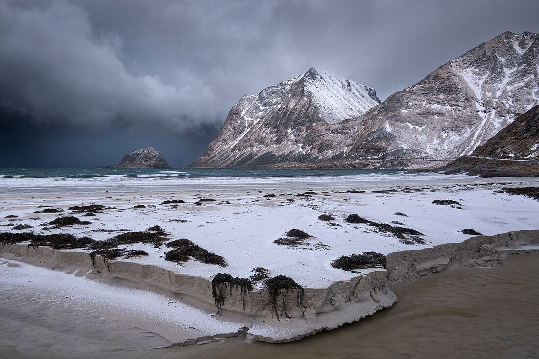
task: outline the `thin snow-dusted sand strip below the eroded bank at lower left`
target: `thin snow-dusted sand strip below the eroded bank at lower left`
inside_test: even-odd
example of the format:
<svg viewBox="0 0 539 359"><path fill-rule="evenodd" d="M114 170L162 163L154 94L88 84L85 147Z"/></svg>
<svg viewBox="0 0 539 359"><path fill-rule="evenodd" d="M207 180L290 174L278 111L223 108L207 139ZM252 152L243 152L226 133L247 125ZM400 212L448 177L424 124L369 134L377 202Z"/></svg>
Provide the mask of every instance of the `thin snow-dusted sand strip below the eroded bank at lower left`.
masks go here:
<svg viewBox="0 0 539 359"><path fill-rule="evenodd" d="M18 296L31 294L35 302L61 302L74 312L93 310L107 320L161 335L170 343L182 343L192 337L232 335L244 326L217 320L170 296L104 279L89 280L84 274L87 273L69 274L0 259L0 286L5 297L6 292Z"/></svg>

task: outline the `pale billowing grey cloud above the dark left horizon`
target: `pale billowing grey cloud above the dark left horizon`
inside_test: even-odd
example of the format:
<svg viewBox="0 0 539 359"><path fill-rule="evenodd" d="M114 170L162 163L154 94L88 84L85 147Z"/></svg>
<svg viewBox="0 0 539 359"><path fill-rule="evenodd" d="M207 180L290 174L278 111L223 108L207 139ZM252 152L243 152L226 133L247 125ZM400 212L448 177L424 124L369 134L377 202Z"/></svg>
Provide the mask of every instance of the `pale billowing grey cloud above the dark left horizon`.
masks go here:
<svg viewBox="0 0 539 359"><path fill-rule="evenodd" d="M114 126L184 129L213 118L211 89L184 71L178 84L134 74L119 58L122 39L93 29L65 1L43 9L0 3L2 105L37 125L86 130Z"/></svg>

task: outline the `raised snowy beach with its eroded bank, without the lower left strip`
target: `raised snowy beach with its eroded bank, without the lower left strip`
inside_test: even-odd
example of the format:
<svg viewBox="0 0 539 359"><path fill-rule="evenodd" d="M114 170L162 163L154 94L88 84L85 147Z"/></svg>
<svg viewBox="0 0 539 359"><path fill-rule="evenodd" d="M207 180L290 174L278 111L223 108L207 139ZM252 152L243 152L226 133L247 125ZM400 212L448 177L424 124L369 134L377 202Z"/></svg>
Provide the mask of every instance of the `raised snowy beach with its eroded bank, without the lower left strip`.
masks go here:
<svg viewBox="0 0 539 359"><path fill-rule="evenodd" d="M210 331L205 335L188 333L189 330L179 330L175 334L159 333L172 343L192 344L218 341L231 335L247 335L251 340L269 342L298 340L323 329L332 329L343 325L343 323L360 320L379 309L391 306L397 298L391 292L390 287L399 282L459 266L496 265L500 263L504 253L510 251L509 248L515 250L514 248L522 245L532 245L524 250L535 250L533 244L539 242L537 231L530 231L538 227L534 219L537 218L534 217L534 213L539 212L537 202L534 199L508 196L496 192L503 186L536 185L537 179L503 178L493 180L468 177L448 178L449 182L434 183L433 181L429 184L425 181L417 183L417 179L403 181L400 180L398 184L395 182L378 184L356 182L354 185L346 183L333 186L320 185L319 183L319 187L301 183L298 187L292 188L253 185L250 189L236 189L236 186L231 186L222 188L218 192L212 188L203 187L194 191L182 188L181 190L160 192L154 189L154 191L142 193L115 192L111 188L110 191L101 192L99 195L74 194L72 192L60 196L37 193L2 194L0 195L4 203L2 213L16 213L18 217L13 218L15 223L32 223L33 228L39 230L41 228L39 223L44 222L47 218L53 219L66 215L70 212L67 208L71 205L99 203L111 208L96 213L97 217L88 217L92 220L90 225L41 231L43 233L91 235L95 239L106 240L116 233L111 233L109 230L121 233L126 227L126 230L142 230L151 224L158 224L171 235L170 239L189 237L195 243L223 254L229 263L225 268L196 263L193 260L189 260L183 265L168 263L162 258L164 250L154 250L152 254L149 245L126 246L126 248L143 249L150 252L147 258L129 260L106 260L99 255L92 258L89 255L91 251L88 250L53 250L48 247L28 246L24 243L5 244L0 252L7 260L29 261L33 264L54 267L57 270L61 266L65 266L67 272L84 272L88 278L100 273L105 277L127 280L142 285L143 288L144 286L157 288L158 291L169 296L182 296L182 303L202 309L206 313L202 316L215 314L216 308L212 307L214 298L211 295L213 275L231 273L233 277L246 278L250 274L249 268L256 266L254 263L261 261L261 257L257 257L257 261L252 263L246 261L247 263L240 264L237 259L234 259L234 255L238 258L248 257L257 251L256 246L258 245L260 251L264 253L269 248L271 251L281 253L275 254L275 256L288 256L286 257L288 262L275 264L281 267L279 272L275 267L268 265L272 263L272 260L266 260L265 266L269 268L272 275L288 274L303 286L305 295L301 306L299 302L295 303L295 292L292 292L287 299L285 298L288 312L286 312L285 307L275 312L281 315L282 320L279 320L279 316L274 315L274 310L268 307L268 302L271 300L264 288L261 287L261 283L258 283L254 291L248 292L246 296L238 289L230 288L230 297L227 296L222 308L223 316L217 320L235 323L232 330L229 329L225 333ZM305 187L301 187L303 185ZM296 194L298 191L301 194L304 189L308 189L312 194L305 195L306 192L301 196ZM351 192L351 190L357 193ZM459 199L465 208L446 208L446 206L436 206L430 203L432 198L443 199L447 197ZM172 206L160 204L165 199L170 198L183 198L186 203L173 204ZM214 201L216 203L200 204L201 198L216 199ZM294 199L294 201L286 201L286 199ZM479 203L481 201L486 202ZM508 216L505 222L501 221L502 217L496 216L496 212L490 219L483 217L484 208L492 206L493 203L506 205L506 209L502 211L504 216ZM38 219L32 219L37 218L33 217L35 216L33 212L38 205L42 204L63 212L40 214ZM133 210L132 208L136 205L143 205L146 208ZM403 217L403 221L408 222L406 225L421 231L421 235L426 239L425 243L416 245L400 243L394 237L370 230L368 226L349 224L342 219L344 213L358 212L363 215L365 208L370 209L368 212L371 214L368 218L388 222L388 216L392 216L393 211L405 208L408 214L407 218ZM415 213L414 208L417 210ZM241 211L247 212L243 218L240 215ZM423 216L425 213L434 213L433 211L439 211L439 214L429 218L428 222L432 223L424 224L426 218ZM332 223L338 224L335 227L337 233L334 232L334 226L328 226L320 221L317 224L305 226L307 218L314 217L316 213L326 212L332 212L335 215L335 220ZM236 215L236 213L238 214ZM343 213L343 215L337 213ZM377 213L376 218L373 213ZM523 217L524 213L529 217ZM239 218L233 220L230 218L232 215ZM447 218L443 218L442 215ZM271 222L265 224L261 228L262 230L269 230L275 226L281 226L281 229L273 229L275 233L269 233L268 239L264 239L260 243L254 241L251 243L253 248L236 251L238 252L236 254L227 251L227 246L215 247L215 241L211 238L219 238L222 236L219 233L223 230L224 233L229 232L228 234L235 235L248 233L253 227L264 223L257 219L261 216L266 216ZM457 217L452 218L451 216ZM180 217L191 224L169 224L175 223L169 222L170 220ZM481 232L485 231L484 228L493 226L496 228L493 227L492 230L498 231L486 234L507 232L503 229L513 232L494 237L481 236L477 239L467 239L470 236L462 236L462 234L447 235L447 238L435 236L434 233L439 232L440 228L443 235L445 229L444 227L434 227L452 220L453 222L455 220L465 221L466 218L468 223L475 222L476 229ZM218 224L214 222L218 222ZM232 224L226 222L232 222ZM480 225L481 222L485 223ZM288 230L292 226L300 226L302 223L303 229L307 229L309 233L315 235L316 238L312 240L312 243L300 247L280 248L271 241L268 242L270 239L276 239L279 236L278 232ZM10 222L8 219L4 219L3 224L10 224ZM452 225L454 226L454 224ZM202 230L201 227L203 227ZM101 231L101 229L105 231ZM5 226L4 231L9 230L9 226ZM357 237L358 234L359 237ZM330 239L331 236L335 239ZM329 244L330 248L315 247L314 244L320 239L323 240L324 244ZM247 240L244 237L240 238L239 241L232 241L232 246L240 243L246 244ZM347 244L349 241L358 241L358 243L350 245ZM329 266L329 262L338 255L361 253L368 250L376 250L385 254L388 261L386 269L367 268L358 270L357 273L350 273ZM421 254L415 257L410 256L412 252ZM321 261L320 256L323 258ZM298 264L293 264L289 261L292 258L301 258L301 260L298 260ZM303 269L305 264L307 267ZM408 269L403 271L405 267ZM410 269L412 267L413 269ZM396 271L396 268L399 270ZM302 271L305 274L302 274ZM285 313L289 318L285 318L283 315ZM191 320L196 323L198 319ZM186 327L191 326L186 325ZM158 332L158 330L156 331Z"/></svg>

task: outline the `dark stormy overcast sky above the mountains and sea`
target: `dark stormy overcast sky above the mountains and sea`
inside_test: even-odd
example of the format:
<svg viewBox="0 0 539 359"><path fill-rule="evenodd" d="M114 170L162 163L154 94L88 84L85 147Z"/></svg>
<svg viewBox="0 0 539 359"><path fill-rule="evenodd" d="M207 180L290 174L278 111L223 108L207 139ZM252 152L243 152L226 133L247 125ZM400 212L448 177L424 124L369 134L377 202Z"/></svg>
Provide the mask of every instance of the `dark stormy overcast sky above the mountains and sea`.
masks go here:
<svg viewBox="0 0 539 359"><path fill-rule="evenodd" d="M244 94L317 66L381 100L504 31L532 1L0 0L0 167L200 156Z"/></svg>

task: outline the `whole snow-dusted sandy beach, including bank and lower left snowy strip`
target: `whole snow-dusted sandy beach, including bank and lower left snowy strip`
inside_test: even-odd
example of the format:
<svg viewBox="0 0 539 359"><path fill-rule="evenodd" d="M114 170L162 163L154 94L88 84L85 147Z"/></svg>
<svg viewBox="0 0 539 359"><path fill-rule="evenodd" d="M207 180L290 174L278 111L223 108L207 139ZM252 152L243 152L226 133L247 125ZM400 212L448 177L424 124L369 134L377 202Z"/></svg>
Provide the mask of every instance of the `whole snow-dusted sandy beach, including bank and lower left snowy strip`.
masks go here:
<svg viewBox="0 0 539 359"><path fill-rule="evenodd" d="M75 182L43 190L27 187L18 194L4 188L0 195L3 232L63 233L108 243L122 233L156 233L147 229L158 226L163 242L117 244L114 247L122 254L116 258L107 258L109 252L91 255L92 248L54 250L24 242L4 244L0 279L20 289L20 278L26 275L34 287L26 285L24 295L39 292L66 307L100 308L105 317L155 333L167 343L205 343L238 335L279 342L335 328L389 307L397 300L391 287L399 282L459 266L499 264L499 253L508 240L514 241L513 235L494 242L488 236L526 233L526 239L519 234L516 241L527 251L535 250L538 242L533 232L539 228L537 201L501 190L537 185L534 178L266 181L221 183L219 189L206 183L196 190L176 184L167 191L159 187L161 183L158 188L142 185L133 191L121 182L98 187ZM436 203L444 200L454 202ZM77 207L92 204L102 208L88 211ZM331 219L319 219L322 215ZM361 220L350 220L350 215ZM66 216L77 217L82 224L46 224ZM15 230L15 225L31 227ZM292 229L309 237L290 237ZM471 250L467 253L464 247L443 247L468 243L472 236L462 233L465 229L485 235L478 237L477 244L466 244L466 248L478 246L480 255ZM167 244L182 238L223 262L204 263L192 256L167 260L171 251ZM421 252L434 246L441 246L438 253L447 253ZM147 255L125 258L130 251ZM402 271L409 256L402 253L407 251L417 251L414 263L423 263L424 269ZM383 254L387 266L347 271L334 265L341 256L364 252ZM216 306L212 279L218 273L249 278L254 268L263 268L264 278L253 281L246 293L225 284L221 289L230 295L226 293L223 303ZM272 309L264 282L278 275L301 286L301 305L299 297L297 303L295 298L299 290L291 289L284 305ZM63 279L58 280L60 277ZM70 288L84 289L72 292ZM135 294L148 290L151 294ZM131 313L128 316L126 308ZM216 312L219 315L212 315Z"/></svg>

